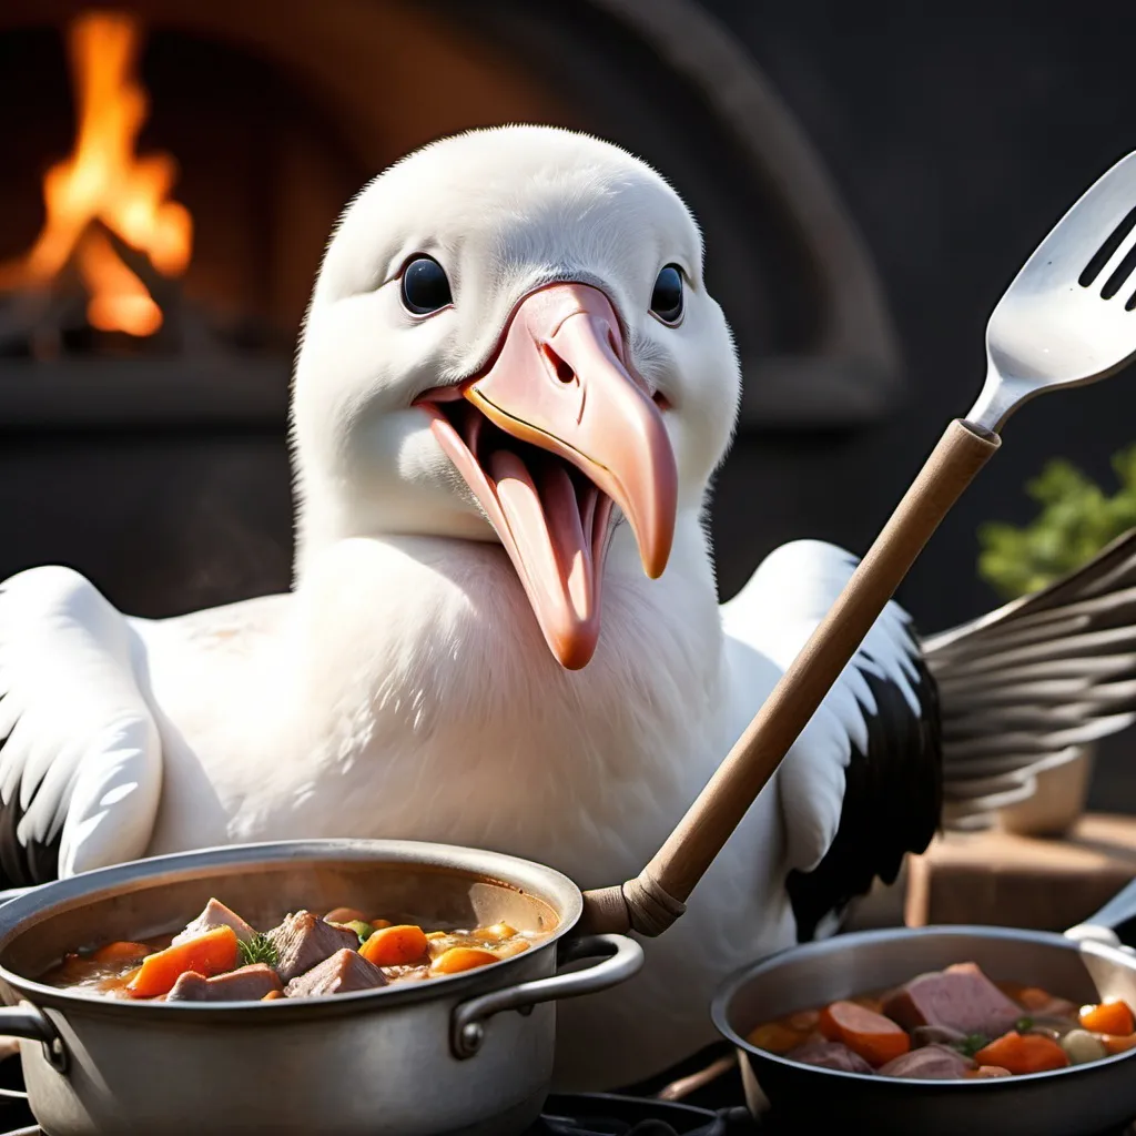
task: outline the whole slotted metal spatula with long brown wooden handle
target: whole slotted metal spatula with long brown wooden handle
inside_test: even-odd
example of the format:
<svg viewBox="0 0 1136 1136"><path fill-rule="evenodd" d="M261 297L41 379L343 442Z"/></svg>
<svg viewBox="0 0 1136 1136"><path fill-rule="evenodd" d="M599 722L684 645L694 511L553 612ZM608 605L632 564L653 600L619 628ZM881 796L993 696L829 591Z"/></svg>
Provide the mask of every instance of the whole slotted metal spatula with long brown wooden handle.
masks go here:
<svg viewBox="0 0 1136 1136"><path fill-rule="evenodd" d="M678 827L637 878L585 892L585 925L658 935L684 904L855 654L939 521L994 456L1022 403L1104 378L1136 357L1136 153L1069 210L991 317L988 368L832 610Z"/></svg>

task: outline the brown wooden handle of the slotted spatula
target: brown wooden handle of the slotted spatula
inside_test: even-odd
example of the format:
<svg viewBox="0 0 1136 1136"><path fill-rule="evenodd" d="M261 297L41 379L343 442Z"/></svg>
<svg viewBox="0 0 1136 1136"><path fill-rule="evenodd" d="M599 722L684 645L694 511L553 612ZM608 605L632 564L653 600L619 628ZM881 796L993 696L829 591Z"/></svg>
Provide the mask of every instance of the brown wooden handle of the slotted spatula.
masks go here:
<svg viewBox="0 0 1136 1136"><path fill-rule="evenodd" d="M927 459L828 615L782 675L678 827L623 887L584 893L584 922L658 935L684 910L790 747L855 654L924 545L1001 440L957 419Z"/></svg>

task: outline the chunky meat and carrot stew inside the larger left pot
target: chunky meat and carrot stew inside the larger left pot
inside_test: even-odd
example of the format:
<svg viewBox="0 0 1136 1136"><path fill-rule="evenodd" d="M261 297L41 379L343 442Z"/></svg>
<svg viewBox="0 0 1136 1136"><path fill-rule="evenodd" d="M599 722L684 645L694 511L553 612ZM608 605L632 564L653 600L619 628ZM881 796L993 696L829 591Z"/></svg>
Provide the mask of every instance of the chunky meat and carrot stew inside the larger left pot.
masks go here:
<svg viewBox="0 0 1136 1136"><path fill-rule="evenodd" d="M249 1002L315 997L421 982L500 962L548 933L508 924L425 930L336 908L286 916L260 934L218 900L178 934L107 943L64 958L43 982L106 997Z"/></svg>

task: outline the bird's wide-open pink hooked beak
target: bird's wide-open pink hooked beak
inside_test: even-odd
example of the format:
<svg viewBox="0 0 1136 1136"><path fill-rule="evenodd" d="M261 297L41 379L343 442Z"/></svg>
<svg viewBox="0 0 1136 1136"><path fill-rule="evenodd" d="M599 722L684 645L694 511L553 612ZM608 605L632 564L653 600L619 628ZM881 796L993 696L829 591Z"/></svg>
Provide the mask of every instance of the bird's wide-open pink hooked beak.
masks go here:
<svg viewBox="0 0 1136 1136"><path fill-rule="evenodd" d="M662 575L675 534L675 454L625 358L608 298L587 284L553 284L520 302L484 375L418 400L569 670L587 665L600 637L612 502L648 576Z"/></svg>

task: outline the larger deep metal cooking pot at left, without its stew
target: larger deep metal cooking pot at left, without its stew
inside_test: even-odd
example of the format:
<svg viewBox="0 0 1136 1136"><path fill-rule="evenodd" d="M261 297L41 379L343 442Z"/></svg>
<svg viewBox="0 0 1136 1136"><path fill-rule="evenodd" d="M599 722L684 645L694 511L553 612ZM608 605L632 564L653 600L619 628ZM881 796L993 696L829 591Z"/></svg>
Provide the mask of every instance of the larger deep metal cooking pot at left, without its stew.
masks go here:
<svg viewBox="0 0 1136 1136"><path fill-rule="evenodd" d="M174 932L214 895L261 928L344 905L551 935L477 970L334 997L148 1003L36 980L76 947ZM621 935L568 937L580 911L579 889L551 868L441 844L290 841L158 857L0 907L0 1034L23 1039L30 1104L50 1136L509 1136L549 1089L553 1001L643 963Z"/></svg>

